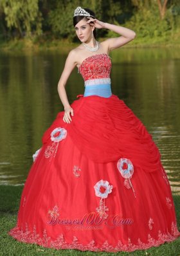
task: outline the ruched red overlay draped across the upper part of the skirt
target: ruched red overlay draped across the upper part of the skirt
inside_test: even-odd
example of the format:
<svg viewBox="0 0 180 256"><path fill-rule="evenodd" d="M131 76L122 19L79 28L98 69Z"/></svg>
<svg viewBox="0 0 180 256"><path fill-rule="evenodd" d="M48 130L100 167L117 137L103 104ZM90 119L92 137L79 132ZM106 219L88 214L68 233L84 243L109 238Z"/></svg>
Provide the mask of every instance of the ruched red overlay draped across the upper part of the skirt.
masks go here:
<svg viewBox="0 0 180 256"><path fill-rule="evenodd" d="M55 127L66 127L76 147L97 163L129 158L145 172L161 167L158 147L145 125L118 96L81 96L71 107L74 110L71 123L64 123L64 111L44 133L42 142L50 140Z"/></svg>

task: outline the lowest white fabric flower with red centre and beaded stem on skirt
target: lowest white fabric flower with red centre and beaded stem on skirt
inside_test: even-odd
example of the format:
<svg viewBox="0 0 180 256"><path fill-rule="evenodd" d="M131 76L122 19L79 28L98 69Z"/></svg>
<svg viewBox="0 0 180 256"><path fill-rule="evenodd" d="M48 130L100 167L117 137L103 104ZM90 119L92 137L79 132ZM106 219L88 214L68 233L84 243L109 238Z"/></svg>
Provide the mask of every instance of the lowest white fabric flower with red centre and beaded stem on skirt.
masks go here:
<svg viewBox="0 0 180 256"><path fill-rule="evenodd" d="M107 198L108 194L112 192L113 185L109 185L108 181L100 180L94 186L95 194L100 199L100 206L96 208L96 211L100 215L100 218L107 219L107 211L109 210L107 206L105 206L105 198Z"/></svg>

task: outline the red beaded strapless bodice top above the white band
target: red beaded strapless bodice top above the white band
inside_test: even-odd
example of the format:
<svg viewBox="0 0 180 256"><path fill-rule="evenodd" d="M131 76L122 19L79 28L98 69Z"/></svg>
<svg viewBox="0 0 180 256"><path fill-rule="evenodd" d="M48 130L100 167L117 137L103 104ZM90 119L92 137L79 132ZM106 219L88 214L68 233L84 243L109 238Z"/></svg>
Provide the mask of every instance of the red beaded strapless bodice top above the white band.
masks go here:
<svg viewBox="0 0 180 256"><path fill-rule="evenodd" d="M79 72L85 81L96 78L109 78L111 59L106 53L87 57L80 65Z"/></svg>

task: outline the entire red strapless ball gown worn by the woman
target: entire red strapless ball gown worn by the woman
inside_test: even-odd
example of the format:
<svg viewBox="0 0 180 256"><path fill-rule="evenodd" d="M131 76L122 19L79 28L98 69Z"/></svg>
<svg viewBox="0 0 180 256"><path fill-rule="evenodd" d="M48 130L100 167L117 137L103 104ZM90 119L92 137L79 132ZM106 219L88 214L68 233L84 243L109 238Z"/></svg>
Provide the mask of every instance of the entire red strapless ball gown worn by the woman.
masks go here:
<svg viewBox="0 0 180 256"><path fill-rule="evenodd" d="M90 91L92 82L103 91L111 59L87 57L79 71ZM62 111L44 132L8 234L82 251L144 250L174 241L180 232L158 147L123 100L94 90L71 104L71 123Z"/></svg>

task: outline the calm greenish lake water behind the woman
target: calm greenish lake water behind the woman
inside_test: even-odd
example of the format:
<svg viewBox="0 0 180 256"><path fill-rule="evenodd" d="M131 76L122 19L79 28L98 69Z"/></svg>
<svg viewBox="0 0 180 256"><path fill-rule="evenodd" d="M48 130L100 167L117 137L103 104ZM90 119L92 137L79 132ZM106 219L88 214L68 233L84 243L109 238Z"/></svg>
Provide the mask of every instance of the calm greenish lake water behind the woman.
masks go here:
<svg viewBox="0 0 180 256"><path fill-rule="evenodd" d="M24 184L42 134L64 110L57 92L60 51L0 53L0 184ZM120 48L111 53L112 91L145 124L180 192L180 50ZM71 104L84 93L77 69L66 85Z"/></svg>

